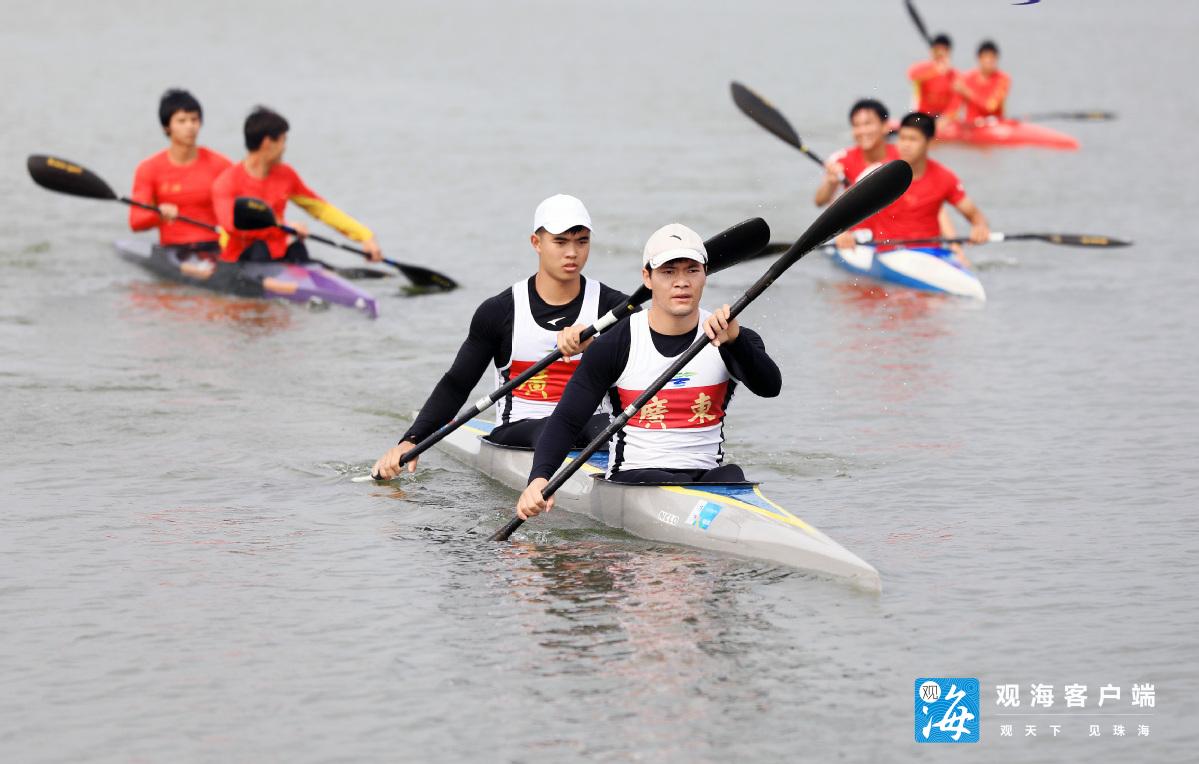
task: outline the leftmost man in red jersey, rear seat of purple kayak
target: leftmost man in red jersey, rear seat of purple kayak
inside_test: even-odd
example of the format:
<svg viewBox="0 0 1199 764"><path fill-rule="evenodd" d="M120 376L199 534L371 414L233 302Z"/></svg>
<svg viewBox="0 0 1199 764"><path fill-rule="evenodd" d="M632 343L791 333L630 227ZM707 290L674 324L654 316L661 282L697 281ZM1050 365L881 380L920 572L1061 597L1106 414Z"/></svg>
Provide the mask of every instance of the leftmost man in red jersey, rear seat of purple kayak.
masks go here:
<svg viewBox="0 0 1199 764"><path fill-rule="evenodd" d="M158 102L158 121L170 145L138 164L133 175L134 201L152 204L157 212L129 207L129 228L158 229L158 242L194 251L217 249L217 235L199 225L180 223L182 215L217 224L212 211L212 181L230 164L223 155L195 145L204 112L186 90L168 90Z"/></svg>

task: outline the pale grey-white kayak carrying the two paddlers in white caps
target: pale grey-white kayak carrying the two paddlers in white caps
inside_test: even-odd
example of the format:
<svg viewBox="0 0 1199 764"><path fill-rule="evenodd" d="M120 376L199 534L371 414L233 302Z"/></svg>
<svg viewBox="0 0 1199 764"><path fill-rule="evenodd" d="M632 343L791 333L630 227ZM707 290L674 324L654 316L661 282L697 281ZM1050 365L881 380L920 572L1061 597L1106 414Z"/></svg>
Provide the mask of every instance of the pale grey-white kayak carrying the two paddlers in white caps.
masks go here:
<svg viewBox="0 0 1199 764"><path fill-rule="evenodd" d="M438 447L514 491L532 469L532 449L482 437L494 425L474 419ZM568 458L578 456L572 451ZM596 453L554 494L555 509L586 515L629 534L846 579L879 591L879 572L839 543L767 499L758 483L617 483L603 479L608 453Z"/></svg>

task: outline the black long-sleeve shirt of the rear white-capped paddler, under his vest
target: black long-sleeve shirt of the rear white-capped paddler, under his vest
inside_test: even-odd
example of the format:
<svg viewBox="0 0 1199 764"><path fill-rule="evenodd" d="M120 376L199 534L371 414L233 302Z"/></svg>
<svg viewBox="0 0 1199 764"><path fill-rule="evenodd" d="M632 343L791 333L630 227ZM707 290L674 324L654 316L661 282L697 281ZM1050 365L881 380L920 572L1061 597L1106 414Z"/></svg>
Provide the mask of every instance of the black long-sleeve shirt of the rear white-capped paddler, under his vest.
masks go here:
<svg viewBox="0 0 1199 764"><path fill-rule="evenodd" d="M541 299L535 287L536 277L529 277L529 307L538 326L556 332L566 326L573 326L583 309L583 295L586 293L586 278L579 277L579 294L566 305L549 305ZM622 307L628 301L625 295L607 284L600 284L598 314ZM458 415L478 384L488 366L504 367L512 356L512 326L516 317L516 302L512 288L488 297L475 309L470 320L470 331L458 349L450 369L433 389L429 399L421 407L416 421L408 428L400 440L417 443L436 432L439 427ZM540 360L540 359L538 359ZM594 409L592 409L594 410Z"/></svg>

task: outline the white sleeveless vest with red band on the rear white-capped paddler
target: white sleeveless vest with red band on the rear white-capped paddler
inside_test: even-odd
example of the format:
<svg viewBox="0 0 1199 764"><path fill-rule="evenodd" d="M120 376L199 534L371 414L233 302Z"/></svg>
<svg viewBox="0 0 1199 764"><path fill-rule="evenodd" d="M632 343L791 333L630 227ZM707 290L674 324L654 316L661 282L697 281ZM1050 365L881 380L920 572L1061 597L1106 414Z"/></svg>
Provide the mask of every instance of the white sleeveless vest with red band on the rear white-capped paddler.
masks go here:
<svg viewBox="0 0 1199 764"><path fill-rule="evenodd" d="M512 355L507 366L495 369L496 387L519 377L530 366L558 349L558 331L542 329L532 318L532 308L529 306L529 279L512 284L512 302L516 308L512 317ZM583 288L583 306L574 323L595 324L600 318L598 311L600 282L589 278ZM532 379L496 401L495 423L508 425L526 419L544 419L553 414L554 407L562 398L566 383L578 368L580 357L582 354L570 360L554 361ZM601 410L610 410L607 402Z"/></svg>

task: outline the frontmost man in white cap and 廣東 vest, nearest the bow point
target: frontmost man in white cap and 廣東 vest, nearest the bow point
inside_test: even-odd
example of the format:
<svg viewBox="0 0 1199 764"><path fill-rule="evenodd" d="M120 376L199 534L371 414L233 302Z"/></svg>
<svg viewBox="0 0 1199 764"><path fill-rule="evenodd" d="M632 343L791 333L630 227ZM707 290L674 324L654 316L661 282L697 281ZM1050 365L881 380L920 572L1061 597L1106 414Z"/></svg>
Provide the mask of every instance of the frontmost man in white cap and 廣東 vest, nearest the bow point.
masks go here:
<svg viewBox="0 0 1199 764"><path fill-rule="evenodd" d="M729 318L729 306L701 311L707 252L699 234L671 223L650 236L641 281L653 293L650 309L609 329L583 355L562 399L542 431L529 487L517 515L553 506L541 497L607 398L623 409L701 332L712 342L634 415L609 445L608 480L620 482L740 482L745 473L724 463L724 411L737 383L772 398L783 386L778 366L758 332Z"/></svg>

